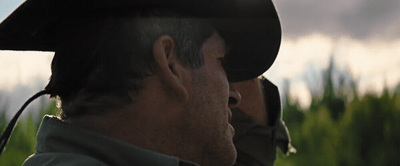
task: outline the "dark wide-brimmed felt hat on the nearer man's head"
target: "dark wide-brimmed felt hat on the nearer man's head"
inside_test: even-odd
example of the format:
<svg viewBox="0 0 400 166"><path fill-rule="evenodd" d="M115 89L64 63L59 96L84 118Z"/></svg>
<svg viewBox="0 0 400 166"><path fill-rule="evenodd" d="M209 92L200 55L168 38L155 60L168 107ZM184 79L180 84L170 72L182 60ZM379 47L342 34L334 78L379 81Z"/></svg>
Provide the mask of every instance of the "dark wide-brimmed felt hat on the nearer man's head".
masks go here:
<svg viewBox="0 0 400 166"><path fill-rule="evenodd" d="M67 17L143 8L212 19L231 47L230 81L261 75L279 51L281 27L271 0L27 0L0 24L0 50L55 51L55 25Z"/></svg>

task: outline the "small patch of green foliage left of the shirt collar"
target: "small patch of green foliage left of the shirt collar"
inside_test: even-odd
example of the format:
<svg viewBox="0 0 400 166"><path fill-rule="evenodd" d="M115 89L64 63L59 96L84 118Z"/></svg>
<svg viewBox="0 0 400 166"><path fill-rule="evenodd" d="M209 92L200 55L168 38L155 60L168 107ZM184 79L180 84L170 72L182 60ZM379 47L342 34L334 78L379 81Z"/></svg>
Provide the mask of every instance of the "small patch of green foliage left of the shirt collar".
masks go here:
<svg viewBox="0 0 400 166"><path fill-rule="evenodd" d="M0 129L3 132L8 124L6 120L5 110L1 110L0 114ZM35 152L34 146L36 145L36 133L40 124L40 118L44 114L55 115L57 108L55 102L49 105L42 105L39 113L31 113L24 116L17 123L13 134L0 156L0 165L4 166L20 166L25 159Z"/></svg>

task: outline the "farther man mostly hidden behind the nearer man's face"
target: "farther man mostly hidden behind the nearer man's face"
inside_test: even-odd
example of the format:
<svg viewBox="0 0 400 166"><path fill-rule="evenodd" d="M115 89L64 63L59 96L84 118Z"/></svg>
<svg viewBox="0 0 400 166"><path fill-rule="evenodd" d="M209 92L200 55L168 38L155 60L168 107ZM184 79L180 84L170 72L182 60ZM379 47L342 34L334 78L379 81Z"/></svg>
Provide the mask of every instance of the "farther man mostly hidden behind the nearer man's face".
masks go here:
<svg viewBox="0 0 400 166"><path fill-rule="evenodd" d="M265 77L231 83L230 87L241 94L241 102L232 109L238 153L235 166L272 166L276 147L285 154L295 153L281 119L278 88Z"/></svg>

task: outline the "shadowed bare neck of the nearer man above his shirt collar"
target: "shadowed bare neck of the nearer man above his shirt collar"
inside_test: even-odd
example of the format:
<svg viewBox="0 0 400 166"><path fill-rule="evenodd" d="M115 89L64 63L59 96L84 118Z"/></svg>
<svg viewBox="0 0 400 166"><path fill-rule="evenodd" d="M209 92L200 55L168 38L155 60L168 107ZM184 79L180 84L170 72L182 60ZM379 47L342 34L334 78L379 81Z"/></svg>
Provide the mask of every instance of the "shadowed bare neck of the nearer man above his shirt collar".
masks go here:
<svg viewBox="0 0 400 166"><path fill-rule="evenodd" d="M149 86L149 85L147 85ZM182 144L179 112L183 109L171 102L160 89L143 89L134 102L120 110L101 115L85 115L65 122L155 152L178 156L174 152Z"/></svg>

